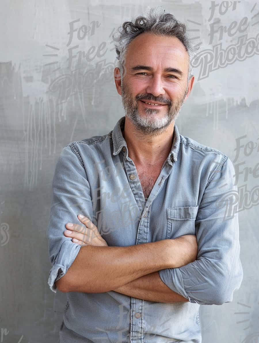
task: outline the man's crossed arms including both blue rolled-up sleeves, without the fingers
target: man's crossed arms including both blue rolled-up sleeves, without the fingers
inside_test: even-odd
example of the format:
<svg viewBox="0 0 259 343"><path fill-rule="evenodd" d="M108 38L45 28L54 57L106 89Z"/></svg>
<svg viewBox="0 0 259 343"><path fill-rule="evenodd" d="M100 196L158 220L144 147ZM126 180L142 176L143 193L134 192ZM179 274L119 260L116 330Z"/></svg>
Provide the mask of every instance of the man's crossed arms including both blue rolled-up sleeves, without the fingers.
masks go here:
<svg viewBox="0 0 259 343"><path fill-rule="evenodd" d="M64 237L63 225L69 218L75 220L78 213L89 218L93 216L90 185L78 156L74 145L66 146L57 161L53 178L53 201L47 230L52 263L48 284L53 292L57 287L62 292L116 291L151 301L168 301L165 294L169 294L173 302L175 297L182 295L184 298L180 301L188 298L201 305L222 305L233 300L243 273L239 258L238 214L235 212L235 169L229 158L217 155L218 166L206 174L208 182L195 220L199 245L197 256L193 261L176 265L178 256L182 254L181 258L186 259L191 250L189 246L187 251L180 248L178 253L175 252L178 247L175 241L180 237L130 247L80 247L72 244L69 235ZM224 203L228 204L227 208ZM165 248L165 241L174 243L172 246L166 243ZM171 264L163 260L165 257L172 259ZM59 280L58 274L63 275ZM152 291L153 285L156 293Z"/></svg>

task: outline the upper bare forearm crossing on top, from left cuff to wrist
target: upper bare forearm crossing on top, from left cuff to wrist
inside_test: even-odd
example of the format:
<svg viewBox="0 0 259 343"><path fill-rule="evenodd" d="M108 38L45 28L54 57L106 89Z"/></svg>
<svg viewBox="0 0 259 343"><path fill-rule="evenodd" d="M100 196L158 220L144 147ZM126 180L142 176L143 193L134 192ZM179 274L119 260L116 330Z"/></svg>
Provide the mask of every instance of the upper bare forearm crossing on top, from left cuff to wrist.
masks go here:
<svg viewBox="0 0 259 343"><path fill-rule="evenodd" d="M173 268L172 240L128 247L83 246L66 272L67 292L111 291L161 269Z"/></svg>

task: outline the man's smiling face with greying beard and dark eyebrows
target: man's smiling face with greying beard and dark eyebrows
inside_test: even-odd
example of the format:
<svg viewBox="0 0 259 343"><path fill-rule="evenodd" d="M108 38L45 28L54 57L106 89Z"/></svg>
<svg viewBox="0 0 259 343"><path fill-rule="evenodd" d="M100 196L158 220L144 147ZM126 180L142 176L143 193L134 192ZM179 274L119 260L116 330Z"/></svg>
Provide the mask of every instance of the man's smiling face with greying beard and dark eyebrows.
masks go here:
<svg viewBox="0 0 259 343"><path fill-rule="evenodd" d="M121 96L125 115L136 129L156 135L175 121L188 93L188 58L184 45L175 37L143 33L132 40L121 79ZM132 69L136 66L152 70ZM182 74L165 68L178 69ZM147 105L143 99L164 105Z"/></svg>

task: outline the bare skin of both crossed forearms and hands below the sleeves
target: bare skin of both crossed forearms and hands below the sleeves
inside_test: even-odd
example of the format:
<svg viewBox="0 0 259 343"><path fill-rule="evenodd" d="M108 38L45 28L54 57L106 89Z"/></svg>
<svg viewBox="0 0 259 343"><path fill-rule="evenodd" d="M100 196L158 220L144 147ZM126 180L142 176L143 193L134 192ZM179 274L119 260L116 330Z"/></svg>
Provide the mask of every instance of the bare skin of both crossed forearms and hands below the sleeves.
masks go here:
<svg viewBox="0 0 259 343"><path fill-rule="evenodd" d="M87 222L89 223L89 220ZM179 267L195 260L197 250L195 245L190 246L190 241L167 239L129 247L108 247L101 236L97 237L98 230L92 223L90 229L90 225L85 221L85 229L88 232L84 234L80 233L79 225L73 225L73 228L69 228L72 230L71 234L67 235L65 232L65 235L80 239L79 245L83 245L83 241L86 242L87 239L89 243L90 237L91 245L84 244L81 247L65 276L56 281L60 291L115 291L139 299L164 303L188 301L166 286L158 270ZM95 246L99 245L98 242L106 246ZM193 253L190 254L190 251ZM183 254L185 259L181 259Z"/></svg>

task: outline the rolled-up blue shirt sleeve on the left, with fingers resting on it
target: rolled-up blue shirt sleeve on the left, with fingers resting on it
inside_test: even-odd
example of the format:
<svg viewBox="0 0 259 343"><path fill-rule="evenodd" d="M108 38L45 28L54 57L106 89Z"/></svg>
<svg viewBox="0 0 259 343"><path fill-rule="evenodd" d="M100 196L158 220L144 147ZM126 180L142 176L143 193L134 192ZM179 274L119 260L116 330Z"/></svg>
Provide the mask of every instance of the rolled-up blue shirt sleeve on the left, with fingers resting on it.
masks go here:
<svg viewBox="0 0 259 343"><path fill-rule="evenodd" d="M47 229L48 254L52 264L48 285L56 293L55 281L64 276L75 260L80 245L64 236L68 222L82 224L77 218L83 214L91 220L93 205L82 158L73 143L65 146L56 163L53 198Z"/></svg>

